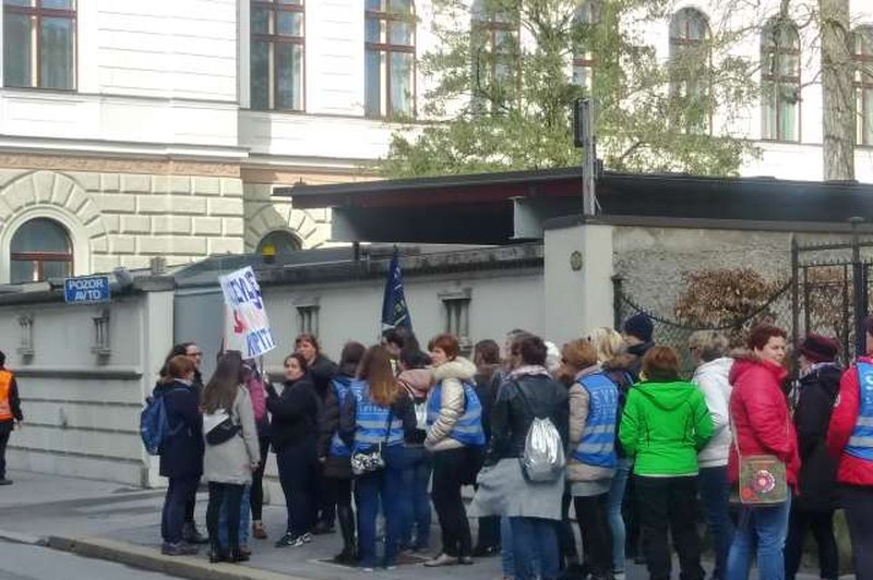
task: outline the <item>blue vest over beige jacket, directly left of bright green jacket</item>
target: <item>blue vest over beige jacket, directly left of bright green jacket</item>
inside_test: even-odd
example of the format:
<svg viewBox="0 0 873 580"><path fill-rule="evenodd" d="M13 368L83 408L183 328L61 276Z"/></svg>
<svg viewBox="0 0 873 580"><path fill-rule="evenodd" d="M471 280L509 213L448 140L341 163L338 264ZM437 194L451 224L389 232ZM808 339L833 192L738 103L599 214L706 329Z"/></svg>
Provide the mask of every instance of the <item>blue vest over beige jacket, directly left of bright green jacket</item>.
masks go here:
<svg viewBox="0 0 873 580"><path fill-rule="evenodd" d="M573 458L586 466L612 469L618 463L615 421L619 388L602 373L587 375L577 383L588 392L588 418Z"/></svg>

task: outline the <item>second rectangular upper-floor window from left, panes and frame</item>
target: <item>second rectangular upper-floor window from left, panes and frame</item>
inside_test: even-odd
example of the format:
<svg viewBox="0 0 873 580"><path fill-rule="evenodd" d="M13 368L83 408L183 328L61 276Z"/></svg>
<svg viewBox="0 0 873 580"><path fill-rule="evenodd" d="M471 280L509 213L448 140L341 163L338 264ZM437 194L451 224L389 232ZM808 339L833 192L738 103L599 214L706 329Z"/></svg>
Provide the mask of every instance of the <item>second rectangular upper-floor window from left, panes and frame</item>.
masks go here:
<svg viewBox="0 0 873 580"><path fill-rule="evenodd" d="M303 0L252 0L252 109L303 110Z"/></svg>

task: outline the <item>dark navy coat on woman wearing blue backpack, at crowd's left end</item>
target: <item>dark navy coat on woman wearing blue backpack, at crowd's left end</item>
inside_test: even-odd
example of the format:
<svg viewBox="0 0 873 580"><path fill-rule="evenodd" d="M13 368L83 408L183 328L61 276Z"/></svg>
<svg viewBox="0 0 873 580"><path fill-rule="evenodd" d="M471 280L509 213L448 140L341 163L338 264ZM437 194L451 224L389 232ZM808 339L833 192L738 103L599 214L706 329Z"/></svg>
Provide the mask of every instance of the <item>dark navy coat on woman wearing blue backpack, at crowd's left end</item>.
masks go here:
<svg viewBox="0 0 873 580"><path fill-rule="evenodd" d="M193 385L176 382L158 384L153 396L163 396L170 432L160 445L160 474L165 478L200 478L203 475L203 414L200 397Z"/></svg>

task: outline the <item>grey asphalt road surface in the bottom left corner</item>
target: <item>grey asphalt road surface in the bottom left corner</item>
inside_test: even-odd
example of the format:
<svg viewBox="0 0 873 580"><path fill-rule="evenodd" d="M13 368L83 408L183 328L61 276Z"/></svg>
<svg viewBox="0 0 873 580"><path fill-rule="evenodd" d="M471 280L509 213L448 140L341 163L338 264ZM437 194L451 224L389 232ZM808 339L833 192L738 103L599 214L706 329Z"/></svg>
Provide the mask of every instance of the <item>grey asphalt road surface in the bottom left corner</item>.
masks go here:
<svg viewBox="0 0 873 580"><path fill-rule="evenodd" d="M65 552L0 542L0 580L169 580L111 561L83 558Z"/></svg>

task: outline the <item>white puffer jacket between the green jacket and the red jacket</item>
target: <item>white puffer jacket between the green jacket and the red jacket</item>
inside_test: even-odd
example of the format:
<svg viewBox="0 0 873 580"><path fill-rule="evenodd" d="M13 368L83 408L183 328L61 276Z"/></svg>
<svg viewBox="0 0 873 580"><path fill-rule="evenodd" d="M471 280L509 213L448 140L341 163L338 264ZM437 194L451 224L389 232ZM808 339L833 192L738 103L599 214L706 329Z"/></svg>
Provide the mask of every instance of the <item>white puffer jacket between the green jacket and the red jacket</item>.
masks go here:
<svg viewBox="0 0 873 580"><path fill-rule="evenodd" d="M722 357L702 363L694 371L691 382L699 387L706 399L706 407L713 418L713 438L697 456L701 468L717 468L728 464L731 432L730 414L730 370L733 359Z"/></svg>

